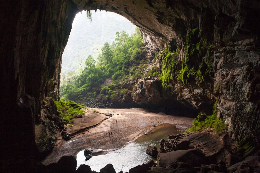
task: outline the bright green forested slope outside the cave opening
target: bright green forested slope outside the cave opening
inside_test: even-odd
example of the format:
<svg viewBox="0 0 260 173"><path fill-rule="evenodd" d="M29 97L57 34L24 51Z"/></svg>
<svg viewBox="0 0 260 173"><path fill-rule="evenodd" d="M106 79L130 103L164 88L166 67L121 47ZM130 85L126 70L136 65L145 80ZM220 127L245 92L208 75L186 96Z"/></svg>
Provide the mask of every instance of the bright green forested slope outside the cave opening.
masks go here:
<svg viewBox="0 0 260 173"><path fill-rule="evenodd" d="M92 55L87 59L79 75L69 72L61 86L63 100L79 103L102 95L107 99L124 94L127 89L120 87L122 81L133 81L144 71L145 48L139 29L129 36L126 31L116 32L112 44L106 42L101 48L97 61Z"/></svg>

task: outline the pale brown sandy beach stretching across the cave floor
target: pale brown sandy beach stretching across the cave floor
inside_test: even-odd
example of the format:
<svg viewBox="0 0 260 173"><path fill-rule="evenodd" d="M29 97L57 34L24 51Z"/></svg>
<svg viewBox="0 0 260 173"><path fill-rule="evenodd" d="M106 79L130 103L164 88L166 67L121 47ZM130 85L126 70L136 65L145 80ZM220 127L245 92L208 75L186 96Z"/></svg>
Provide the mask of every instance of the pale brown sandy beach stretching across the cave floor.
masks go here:
<svg viewBox="0 0 260 173"><path fill-rule="evenodd" d="M189 117L149 113L141 108L89 109L90 112L94 110L100 114L111 113L112 116L96 127L73 136L71 140L59 140L58 146L42 161L43 164L57 162L62 156L73 155L76 157L76 154L85 148L108 151L119 149L153 129L153 125L170 123L182 131L191 127L193 120ZM113 136L111 132L113 132Z"/></svg>

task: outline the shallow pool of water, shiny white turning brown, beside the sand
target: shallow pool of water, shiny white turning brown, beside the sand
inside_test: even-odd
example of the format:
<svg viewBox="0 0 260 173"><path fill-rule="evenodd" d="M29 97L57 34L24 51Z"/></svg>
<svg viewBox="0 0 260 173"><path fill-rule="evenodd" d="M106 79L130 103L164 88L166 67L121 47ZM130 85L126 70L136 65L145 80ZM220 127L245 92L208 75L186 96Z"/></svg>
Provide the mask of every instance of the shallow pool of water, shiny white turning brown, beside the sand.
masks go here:
<svg viewBox="0 0 260 173"><path fill-rule="evenodd" d="M160 139L166 139L167 135L178 133L179 129L176 128L176 126L172 124L162 124L148 132L147 135L138 137L134 142L131 142L123 148L111 151L107 154L93 156L88 161L85 161L84 150L82 150L77 154L77 168L81 164L86 164L89 165L92 170L99 172L101 168L111 163L116 172L121 170L123 172L129 172L130 168L147 163L152 159L151 156L145 153L148 145L153 144L158 146Z"/></svg>

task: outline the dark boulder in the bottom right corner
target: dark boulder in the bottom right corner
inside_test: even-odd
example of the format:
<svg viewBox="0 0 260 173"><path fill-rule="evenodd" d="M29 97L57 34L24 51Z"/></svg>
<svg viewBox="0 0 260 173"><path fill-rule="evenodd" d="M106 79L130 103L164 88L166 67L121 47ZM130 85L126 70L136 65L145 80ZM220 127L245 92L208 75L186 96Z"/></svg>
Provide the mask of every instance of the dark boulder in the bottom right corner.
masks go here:
<svg viewBox="0 0 260 173"><path fill-rule="evenodd" d="M228 168L228 172L260 172L260 157L248 156L245 160L238 162Z"/></svg>

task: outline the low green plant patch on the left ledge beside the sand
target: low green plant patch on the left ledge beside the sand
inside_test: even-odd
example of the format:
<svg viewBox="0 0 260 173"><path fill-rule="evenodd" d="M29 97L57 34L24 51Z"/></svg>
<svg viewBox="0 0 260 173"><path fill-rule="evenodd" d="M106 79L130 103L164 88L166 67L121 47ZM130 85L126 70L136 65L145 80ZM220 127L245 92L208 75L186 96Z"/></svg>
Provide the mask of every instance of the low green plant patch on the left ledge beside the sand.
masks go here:
<svg viewBox="0 0 260 173"><path fill-rule="evenodd" d="M64 100L53 100L56 107L57 112L60 117L62 117L62 121L64 123L73 123L74 115L83 115L85 112L81 109L83 106L79 105L74 101L64 101Z"/></svg>

